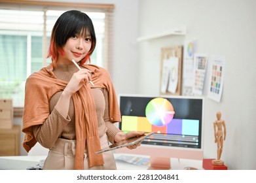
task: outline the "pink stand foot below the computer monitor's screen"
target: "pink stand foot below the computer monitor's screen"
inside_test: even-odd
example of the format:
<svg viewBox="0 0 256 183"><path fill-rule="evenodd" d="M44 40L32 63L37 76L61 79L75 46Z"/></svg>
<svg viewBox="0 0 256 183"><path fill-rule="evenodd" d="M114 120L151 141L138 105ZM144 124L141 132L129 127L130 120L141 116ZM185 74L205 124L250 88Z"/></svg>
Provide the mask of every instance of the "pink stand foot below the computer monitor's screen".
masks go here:
<svg viewBox="0 0 256 183"><path fill-rule="evenodd" d="M151 167L148 170L170 170L171 159L162 157L150 157Z"/></svg>

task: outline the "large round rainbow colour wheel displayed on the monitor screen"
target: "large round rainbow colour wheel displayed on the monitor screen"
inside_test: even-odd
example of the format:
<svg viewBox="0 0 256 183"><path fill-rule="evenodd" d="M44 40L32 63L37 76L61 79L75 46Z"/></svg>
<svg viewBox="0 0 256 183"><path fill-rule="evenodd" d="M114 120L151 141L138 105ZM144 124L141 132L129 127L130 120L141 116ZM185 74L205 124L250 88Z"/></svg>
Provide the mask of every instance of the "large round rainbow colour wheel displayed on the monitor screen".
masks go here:
<svg viewBox="0 0 256 183"><path fill-rule="evenodd" d="M147 120L149 120L152 125L165 126L172 121L175 112L170 101L158 97L149 101L145 109L145 114Z"/></svg>

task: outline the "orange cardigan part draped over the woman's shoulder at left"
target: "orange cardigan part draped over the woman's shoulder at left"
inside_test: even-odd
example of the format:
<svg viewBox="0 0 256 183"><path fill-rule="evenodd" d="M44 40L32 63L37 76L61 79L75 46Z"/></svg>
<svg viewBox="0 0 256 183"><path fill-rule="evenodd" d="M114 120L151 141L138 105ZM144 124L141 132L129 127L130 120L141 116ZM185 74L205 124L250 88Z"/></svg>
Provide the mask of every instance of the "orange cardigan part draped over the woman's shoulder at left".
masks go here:
<svg viewBox="0 0 256 183"><path fill-rule="evenodd" d="M33 126L43 124L50 115L50 97L66 86L65 82L59 82L56 87L54 80L55 78L52 78L46 69L33 73L26 80L22 116L22 132L25 135L22 144L27 152L37 143L33 135Z"/></svg>

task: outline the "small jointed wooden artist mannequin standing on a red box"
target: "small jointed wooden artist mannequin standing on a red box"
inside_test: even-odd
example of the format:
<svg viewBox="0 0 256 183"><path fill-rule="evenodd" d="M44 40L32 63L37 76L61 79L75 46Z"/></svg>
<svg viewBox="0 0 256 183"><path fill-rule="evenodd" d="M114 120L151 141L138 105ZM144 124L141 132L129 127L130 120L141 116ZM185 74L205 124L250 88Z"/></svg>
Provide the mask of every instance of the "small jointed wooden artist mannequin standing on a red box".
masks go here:
<svg viewBox="0 0 256 183"><path fill-rule="evenodd" d="M221 120L221 112L216 113L217 120L213 122L215 143L217 143L217 159L213 159L213 165L223 165L224 161L221 160L223 150L223 141L226 139L226 124L225 120ZM224 135L224 137L223 137Z"/></svg>

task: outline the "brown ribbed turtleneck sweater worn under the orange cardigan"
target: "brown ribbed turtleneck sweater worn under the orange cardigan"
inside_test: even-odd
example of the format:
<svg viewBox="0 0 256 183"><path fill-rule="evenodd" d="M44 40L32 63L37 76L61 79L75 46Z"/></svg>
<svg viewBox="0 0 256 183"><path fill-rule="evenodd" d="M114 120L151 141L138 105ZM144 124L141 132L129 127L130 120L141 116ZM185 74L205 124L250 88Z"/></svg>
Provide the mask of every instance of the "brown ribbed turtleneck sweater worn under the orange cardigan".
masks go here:
<svg viewBox="0 0 256 183"><path fill-rule="evenodd" d="M75 65L58 65L53 70L56 78L69 82L73 73L77 72ZM104 88L92 88L94 95L94 101L96 106L96 114L98 120L98 134L101 137L104 133L107 133L110 142L114 142L115 135L120 131L109 120L109 102L108 93ZM70 100L69 112L67 118L64 118L55 105L62 94L61 92L55 93L50 101L50 116L41 125L33 126L33 133L35 139L45 148L51 148L56 140L61 137L64 139L75 139L75 111L73 105L73 99Z"/></svg>

